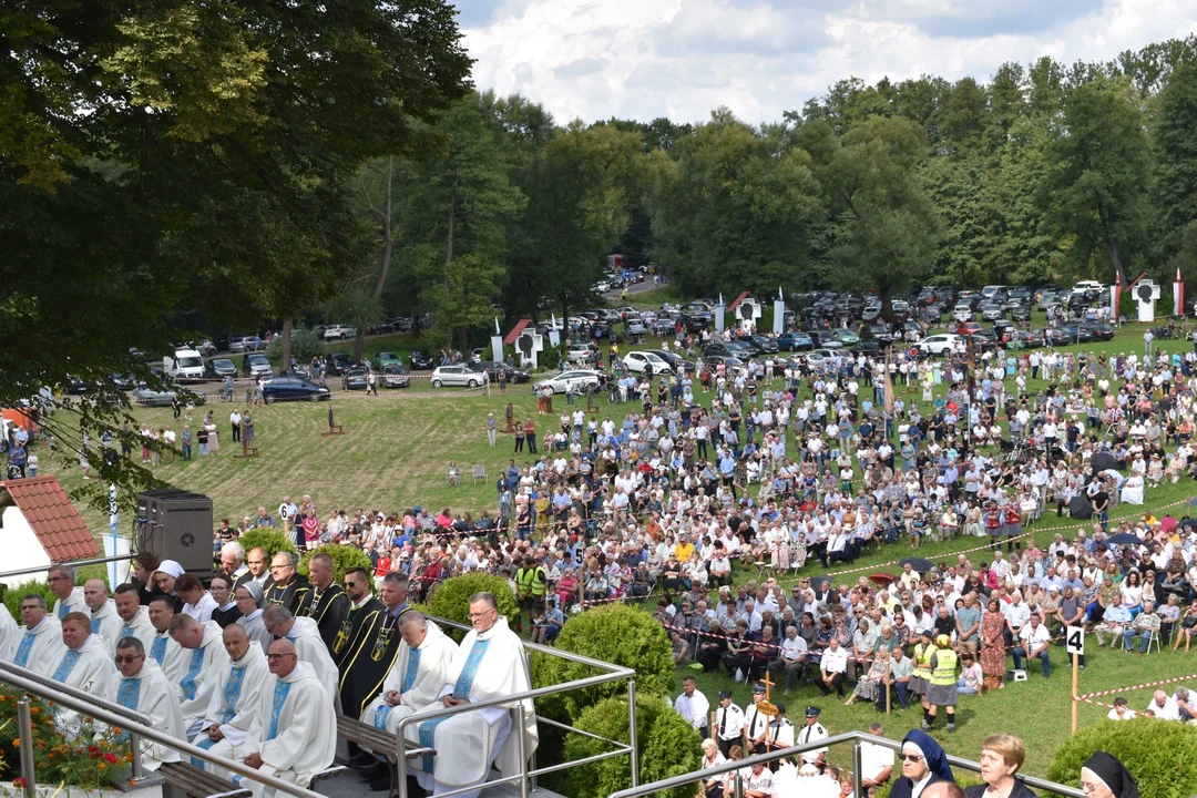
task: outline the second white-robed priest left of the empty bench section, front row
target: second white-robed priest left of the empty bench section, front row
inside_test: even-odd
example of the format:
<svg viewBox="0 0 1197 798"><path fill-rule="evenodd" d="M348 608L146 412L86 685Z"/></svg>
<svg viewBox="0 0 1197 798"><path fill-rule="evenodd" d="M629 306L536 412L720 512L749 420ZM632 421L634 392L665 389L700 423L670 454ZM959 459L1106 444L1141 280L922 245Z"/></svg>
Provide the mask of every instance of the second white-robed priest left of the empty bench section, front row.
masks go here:
<svg viewBox="0 0 1197 798"><path fill-rule="evenodd" d="M249 639L244 627L230 623L225 627L223 638L229 657L220 664L208 711L203 714L203 724L192 744L232 760L241 759L239 750L249 737L254 714L260 706L259 698L272 677L262 646ZM226 778L229 775L202 761L192 763L207 767Z"/></svg>

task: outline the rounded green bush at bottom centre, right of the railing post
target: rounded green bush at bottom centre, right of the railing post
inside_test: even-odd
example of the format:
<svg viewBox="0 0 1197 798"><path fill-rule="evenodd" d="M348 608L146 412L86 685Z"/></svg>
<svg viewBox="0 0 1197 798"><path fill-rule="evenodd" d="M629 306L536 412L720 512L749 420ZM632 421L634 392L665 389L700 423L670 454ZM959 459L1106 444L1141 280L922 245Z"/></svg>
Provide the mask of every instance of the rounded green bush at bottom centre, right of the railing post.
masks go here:
<svg viewBox="0 0 1197 798"><path fill-rule="evenodd" d="M601 735L627 743L627 700L606 699L587 708L575 726L579 731ZM640 784L681 775L701 767L703 742L698 731L657 695L636 696L636 737L640 754ZM576 761L609 751L610 747L593 737L570 733L565 738L565 760ZM606 798L632 786L626 756L571 768L570 785L576 798ZM694 798L697 784L656 793L663 798Z"/></svg>

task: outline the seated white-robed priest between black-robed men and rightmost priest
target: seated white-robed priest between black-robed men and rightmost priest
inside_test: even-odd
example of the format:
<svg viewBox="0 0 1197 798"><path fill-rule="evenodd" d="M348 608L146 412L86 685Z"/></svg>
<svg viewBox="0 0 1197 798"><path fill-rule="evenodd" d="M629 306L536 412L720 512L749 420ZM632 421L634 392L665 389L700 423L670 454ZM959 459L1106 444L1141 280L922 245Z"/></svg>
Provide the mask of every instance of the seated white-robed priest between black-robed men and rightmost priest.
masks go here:
<svg viewBox="0 0 1197 798"><path fill-rule="evenodd" d="M395 664L382 683L382 693L361 714L364 723L391 735L399 730L400 719L432 703L440 706L440 689L457 654L452 638L415 610L399 616L399 633L403 642Z"/></svg>

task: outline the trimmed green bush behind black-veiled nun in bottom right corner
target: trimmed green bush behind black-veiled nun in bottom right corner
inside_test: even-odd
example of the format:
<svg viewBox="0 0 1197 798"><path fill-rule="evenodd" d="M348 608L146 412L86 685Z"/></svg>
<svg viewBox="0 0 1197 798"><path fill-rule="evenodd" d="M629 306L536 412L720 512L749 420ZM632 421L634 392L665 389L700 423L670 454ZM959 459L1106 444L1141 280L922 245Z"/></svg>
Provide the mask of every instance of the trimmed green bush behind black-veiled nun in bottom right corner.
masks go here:
<svg viewBox="0 0 1197 798"><path fill-rule="evenodd" d="M1197 793L1197 727L1140 717L1102 720L1082 729L1056 750L1047 778L1073 785L1094 751L1118 757L1152 798L1189 798Z"/></svg>

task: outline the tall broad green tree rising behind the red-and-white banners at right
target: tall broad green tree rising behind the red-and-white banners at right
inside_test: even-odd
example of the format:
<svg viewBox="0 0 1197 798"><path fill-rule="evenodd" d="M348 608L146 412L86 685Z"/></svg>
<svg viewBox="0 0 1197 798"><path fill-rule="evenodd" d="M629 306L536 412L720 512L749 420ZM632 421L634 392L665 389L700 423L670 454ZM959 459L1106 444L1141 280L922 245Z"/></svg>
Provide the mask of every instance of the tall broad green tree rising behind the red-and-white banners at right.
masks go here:
<svg viewBox="0 0 1197 798"><path fill-rule="evenodd" d="M1049 223L1058 236L1073 238L1074 264L1096 274L1113 267L1123 285L1126 257L1143 254L1138 248L1150 169L1143 126L1129 81L1093 80L1073 87L1039 187Z"/></svg>

